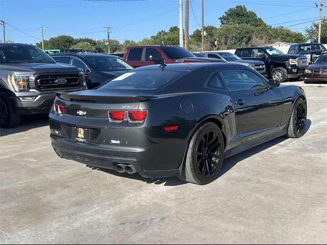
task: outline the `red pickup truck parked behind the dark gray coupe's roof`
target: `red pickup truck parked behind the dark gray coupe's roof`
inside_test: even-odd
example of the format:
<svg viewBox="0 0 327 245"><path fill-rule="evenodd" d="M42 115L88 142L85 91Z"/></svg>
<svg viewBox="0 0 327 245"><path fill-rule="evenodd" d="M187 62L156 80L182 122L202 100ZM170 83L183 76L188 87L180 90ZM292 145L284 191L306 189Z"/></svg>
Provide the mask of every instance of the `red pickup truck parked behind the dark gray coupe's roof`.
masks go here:
<svg viewBox="0 0 327 245"><path fill-rule="evenodd" d="M151 58L150 58L151 57ZM165 63L224 62L213 58L196 57L183 47L170 45L145 45L128 47L123 60L134 68L154 65L151 60L165 59Z"/></svg>

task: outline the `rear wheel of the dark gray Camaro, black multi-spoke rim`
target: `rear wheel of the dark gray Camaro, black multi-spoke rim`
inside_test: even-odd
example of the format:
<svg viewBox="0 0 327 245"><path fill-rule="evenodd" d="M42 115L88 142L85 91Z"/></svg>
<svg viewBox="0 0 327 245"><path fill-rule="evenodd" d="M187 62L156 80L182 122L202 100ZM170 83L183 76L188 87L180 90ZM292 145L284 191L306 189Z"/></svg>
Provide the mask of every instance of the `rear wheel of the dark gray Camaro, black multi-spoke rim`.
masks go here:
<svg viewBox="0 0 327 245"><path fill-rule="evenodd" d="M200 125L191 138L178 178L199 185L214 181L223 163L224 149L224 138L219 127L214 122Z"/></svg>

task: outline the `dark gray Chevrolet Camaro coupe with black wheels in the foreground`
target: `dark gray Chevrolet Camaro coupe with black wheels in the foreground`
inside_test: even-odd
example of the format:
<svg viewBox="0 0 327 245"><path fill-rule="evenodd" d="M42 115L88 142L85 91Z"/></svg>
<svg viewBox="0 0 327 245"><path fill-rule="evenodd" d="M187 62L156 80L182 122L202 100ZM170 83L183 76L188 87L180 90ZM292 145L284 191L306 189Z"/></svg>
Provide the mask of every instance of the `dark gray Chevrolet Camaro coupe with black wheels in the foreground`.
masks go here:
<svg viewBox="0 0 327 245"><path fill-rule="evenodd" d="M244 65L182 63L136 68L95 90L58 93L50 112L58 156L143 177L196 184L223 159L273 138L298 138L307 101Z"/></svg>

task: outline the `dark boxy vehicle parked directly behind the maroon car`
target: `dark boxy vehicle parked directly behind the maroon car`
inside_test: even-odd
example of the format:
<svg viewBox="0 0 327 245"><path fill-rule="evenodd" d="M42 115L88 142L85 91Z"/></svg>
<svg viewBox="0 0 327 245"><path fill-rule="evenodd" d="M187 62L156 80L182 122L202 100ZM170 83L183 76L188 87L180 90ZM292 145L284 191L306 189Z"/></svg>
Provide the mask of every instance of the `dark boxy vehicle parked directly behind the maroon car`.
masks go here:
<svg viewBox="0 0 327 245"><path fill-rule="evenodd" d="M288 54L305 55L308 61L314 62L326 48L321 43L296 43L292 44Z"/></svg>

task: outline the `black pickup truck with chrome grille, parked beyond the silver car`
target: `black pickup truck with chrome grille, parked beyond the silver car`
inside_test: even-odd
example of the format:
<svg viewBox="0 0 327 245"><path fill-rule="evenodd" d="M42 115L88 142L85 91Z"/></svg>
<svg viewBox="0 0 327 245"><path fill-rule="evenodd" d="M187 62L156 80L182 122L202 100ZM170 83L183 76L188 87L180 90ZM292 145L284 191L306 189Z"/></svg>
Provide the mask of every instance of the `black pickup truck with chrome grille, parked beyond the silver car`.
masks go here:
<svg viewBox="0 0 327 245"><path fill-rule="evenodd" d="M286 79L299 79L308 67L307 56L284 54L274 47L237 48L235 55L244 60L261 60L265 62L266 74L279 82Z"/></svg>

